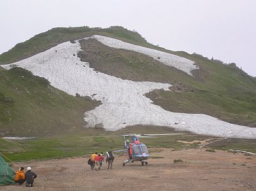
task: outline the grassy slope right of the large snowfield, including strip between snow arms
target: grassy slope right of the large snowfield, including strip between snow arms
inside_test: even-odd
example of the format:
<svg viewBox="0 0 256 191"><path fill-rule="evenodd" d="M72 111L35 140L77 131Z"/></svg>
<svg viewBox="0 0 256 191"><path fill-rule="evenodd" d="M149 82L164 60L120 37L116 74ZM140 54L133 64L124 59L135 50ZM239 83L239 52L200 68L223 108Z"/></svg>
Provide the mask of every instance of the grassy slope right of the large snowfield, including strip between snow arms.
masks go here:
<svg viewBox="0 0 256 191"><path fill-rule="evenodd" d="M167 82L172 91L147 96L156 105L181 113L204 113L230 123L255 127L256 82L234 64L224 65L200 55L177 52L199 65L194 77L136 52L113 49L95 39L80 40L79 57L95 70L127 80Z"/></svg>

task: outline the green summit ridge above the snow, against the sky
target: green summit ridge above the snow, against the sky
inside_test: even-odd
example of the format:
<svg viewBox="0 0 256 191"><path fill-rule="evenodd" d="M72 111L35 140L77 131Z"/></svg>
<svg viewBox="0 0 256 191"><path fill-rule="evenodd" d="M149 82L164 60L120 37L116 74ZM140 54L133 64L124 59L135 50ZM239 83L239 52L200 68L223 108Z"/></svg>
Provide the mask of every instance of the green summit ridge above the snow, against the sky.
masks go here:
<svg viewBox="0 0 256 191"><path fill-rule="evenodd" d="M149 45L137 32L132 32L118 26L107 29L89 28L87 26L54 28L47 32L37 34L25 42L16 44L11 50L0 55L0 64L16 62L50 49L62 42L90 37L93 34L107 35L109 37L115 37L116 39L125 40L126 42L138 45Z"/></svg>

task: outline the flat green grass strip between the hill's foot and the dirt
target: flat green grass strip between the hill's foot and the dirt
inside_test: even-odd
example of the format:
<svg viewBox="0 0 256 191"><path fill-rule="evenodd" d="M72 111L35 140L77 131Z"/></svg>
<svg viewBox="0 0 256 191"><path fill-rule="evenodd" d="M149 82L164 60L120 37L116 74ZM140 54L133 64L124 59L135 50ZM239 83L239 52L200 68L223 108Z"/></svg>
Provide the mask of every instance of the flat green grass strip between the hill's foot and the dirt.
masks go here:
<svg viewBox="0 0 256 191"><path fill-rule="evenodd" d="M0 152L12 161L23 161L31 159L51 159L71 156L83 156L93 152L106 152L109 150L123 149L123 137L94 137L104 135L141 134L147 133L174 133L173 129L160 128L155 126L132 126L116 132L104 131L104 129L71 129L62 134L49 137L38 137L23 141L6 141L0 138L0 143L5 144ZM89 137L88 137L89 136ZM198 138L199 136L197 136ZM181 144L177 139L185 139L182 136L161 136L155 138L140 139L149 148L149 152L159 151L155 147L180 148ZM11 142L11 144L7 144Z"/></svg>

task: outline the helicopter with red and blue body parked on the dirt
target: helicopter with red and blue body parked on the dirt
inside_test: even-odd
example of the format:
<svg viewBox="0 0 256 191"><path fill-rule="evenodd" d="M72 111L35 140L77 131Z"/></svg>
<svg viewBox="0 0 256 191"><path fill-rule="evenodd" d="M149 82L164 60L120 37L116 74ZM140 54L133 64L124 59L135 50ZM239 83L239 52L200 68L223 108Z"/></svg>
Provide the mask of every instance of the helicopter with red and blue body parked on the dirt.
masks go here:
<svg viewBox="0 0 256 191"><path fill-rule="evenodd" d="M147 159L149 159L149 151L147 151L147 146L139 141L139 137L154 137L154 136L166 136L166 135L180 135L184 133L168 133L168 134L124 134L124 150L119 150L116 152L125 152L125 160L122 163L123 166L128 162L139 161L141 165L148 164ZM126 137L132 137L132 142ZM114 151L115 152L115 151Z"/></svg>

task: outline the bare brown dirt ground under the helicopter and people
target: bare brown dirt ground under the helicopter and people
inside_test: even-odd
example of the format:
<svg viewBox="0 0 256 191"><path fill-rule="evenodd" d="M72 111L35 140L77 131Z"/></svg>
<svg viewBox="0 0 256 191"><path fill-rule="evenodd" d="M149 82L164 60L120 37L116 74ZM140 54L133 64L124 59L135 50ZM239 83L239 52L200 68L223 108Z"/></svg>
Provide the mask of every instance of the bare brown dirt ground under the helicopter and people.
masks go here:
<svg viewBox="0 0 256 191"><path fill-rule="evenodd" d="M124 156L116 156L112 170L104 162L97 172L87 165L87 157L18 162L13 169L30 165L38 175L34 187L7 185L0 190L256 190L256 156L206 149L150 150L148 165L123 167ZM174 164L174 159L184 162Z"/></svg>

